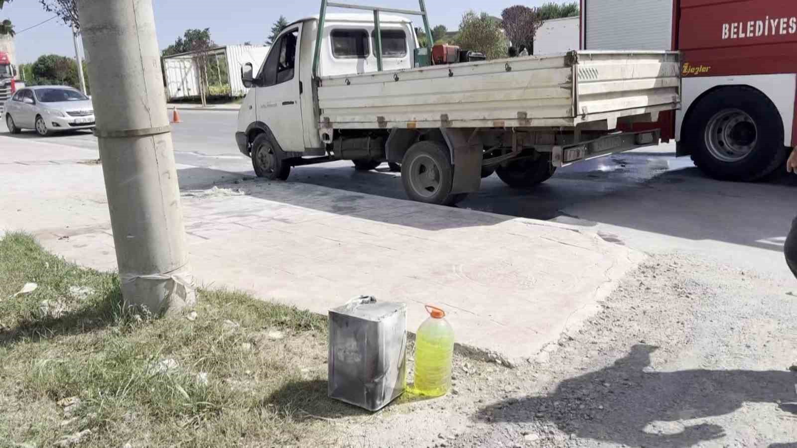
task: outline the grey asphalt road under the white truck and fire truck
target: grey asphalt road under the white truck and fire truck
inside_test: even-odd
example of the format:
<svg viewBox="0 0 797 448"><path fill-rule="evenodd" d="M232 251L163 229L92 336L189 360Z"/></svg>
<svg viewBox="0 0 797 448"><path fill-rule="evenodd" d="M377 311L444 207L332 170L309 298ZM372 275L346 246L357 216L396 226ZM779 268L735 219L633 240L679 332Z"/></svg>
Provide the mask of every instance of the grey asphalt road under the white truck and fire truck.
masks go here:
<svg viewBox="0 0 797 448"><path fill-rule="evenodd" d="M237 113L181 111L173 125L175 159L192 168L180 171L190 187L225 183L253 175L248 158L234 142ZM6 132L4 126L0 132ZM7 135L7 134L6 134ZM89 132L42 139L96 149ZM188 179L188 180L186 180ZM383 165L358 172L341 161L298 167L289 182L406 198L398 174ZM557 171L539 187L515 190L496 175L459 206L524 218L554 219L599 230L649 252L687 250L727 254L739 263L767 266L787 276L779 250L797 213L797 176L779 175L764 183L725 183L707 179L688 158L676 159L674 145L662 144L579 163Z"/></svg>

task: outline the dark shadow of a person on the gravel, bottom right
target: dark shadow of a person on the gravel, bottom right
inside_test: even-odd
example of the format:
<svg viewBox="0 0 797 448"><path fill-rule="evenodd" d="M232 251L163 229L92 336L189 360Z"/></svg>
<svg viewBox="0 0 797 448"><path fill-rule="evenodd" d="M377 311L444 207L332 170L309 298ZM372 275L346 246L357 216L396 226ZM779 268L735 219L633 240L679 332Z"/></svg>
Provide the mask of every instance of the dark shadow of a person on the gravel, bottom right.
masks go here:
<svg viewBox="0 0 797 448"><path fill-rule="evenodd" d="M797 401L797 375L790 371L648 373L656 349L635 345L611 367L566 379L550 395L485 407L477 418L551 422L578 438L627 446L692 446L723 437L724 429L683 421L730 414L744 403ZM783 419L794 417L788 404L780 409Z"/></svg>

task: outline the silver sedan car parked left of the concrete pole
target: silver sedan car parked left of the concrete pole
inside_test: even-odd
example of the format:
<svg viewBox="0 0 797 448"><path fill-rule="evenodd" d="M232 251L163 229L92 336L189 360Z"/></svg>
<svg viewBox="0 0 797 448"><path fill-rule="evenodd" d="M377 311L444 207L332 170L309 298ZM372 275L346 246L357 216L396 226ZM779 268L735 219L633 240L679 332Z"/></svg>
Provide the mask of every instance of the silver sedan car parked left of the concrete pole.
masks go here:
<svg viewBox="0 0 797 448"><path fill-rule="evenodd" d="M40 136L94 128L92 100L66 86L42 85L19 89L6 100L6 127L12 134L34 129Z"/></svg>

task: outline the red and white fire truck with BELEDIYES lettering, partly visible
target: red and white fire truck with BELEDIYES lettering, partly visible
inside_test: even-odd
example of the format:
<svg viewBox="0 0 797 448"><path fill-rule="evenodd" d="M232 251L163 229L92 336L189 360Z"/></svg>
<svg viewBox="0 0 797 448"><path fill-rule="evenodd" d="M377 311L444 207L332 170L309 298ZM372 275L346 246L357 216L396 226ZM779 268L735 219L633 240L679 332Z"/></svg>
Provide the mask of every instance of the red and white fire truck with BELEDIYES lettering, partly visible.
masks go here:
<svg viewBox="0 0 797 448"><path fill-rule="evenodd" d="M797 146L797 1L581 0L582 49L677 49L662 138L717 179L762 179Z"/></svg>

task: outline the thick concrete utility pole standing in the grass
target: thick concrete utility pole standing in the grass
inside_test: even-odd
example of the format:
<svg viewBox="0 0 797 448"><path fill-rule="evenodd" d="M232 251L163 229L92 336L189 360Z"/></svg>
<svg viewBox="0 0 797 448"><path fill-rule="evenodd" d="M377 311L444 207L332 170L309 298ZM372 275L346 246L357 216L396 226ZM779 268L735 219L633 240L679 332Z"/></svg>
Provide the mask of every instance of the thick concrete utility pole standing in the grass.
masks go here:
<svg viewBox="0 0 797 448"><path fill-rule="evenodd" d="M78 0L96 136L127 306L193 305L152 0Z"/></svg>

